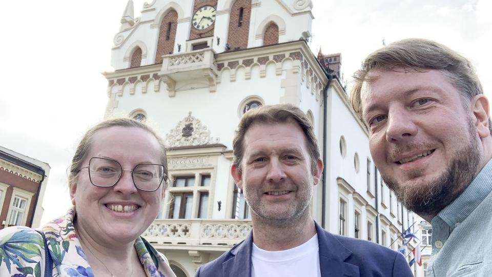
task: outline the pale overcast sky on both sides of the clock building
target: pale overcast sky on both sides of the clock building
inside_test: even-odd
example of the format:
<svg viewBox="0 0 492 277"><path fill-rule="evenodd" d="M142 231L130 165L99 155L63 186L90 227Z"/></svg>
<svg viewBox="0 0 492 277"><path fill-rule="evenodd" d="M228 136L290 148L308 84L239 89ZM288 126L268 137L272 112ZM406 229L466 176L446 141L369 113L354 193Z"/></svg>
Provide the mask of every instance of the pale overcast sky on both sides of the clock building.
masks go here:
<svg viewBox="0 0 492 277"><path fill-rule="evenodd" d="M134 1L135 16L145 2ZM108 98L101 72L113 71L111 47L126 3L0 1L0 145L51 166L43 223L71 205L66 172L83 133L103 119ZM487 77L492 1L314 0L313 5L311 48L342 53L349 88L351 75L383 39L389 44L420 37L469 58L492 97Z"/></svg>

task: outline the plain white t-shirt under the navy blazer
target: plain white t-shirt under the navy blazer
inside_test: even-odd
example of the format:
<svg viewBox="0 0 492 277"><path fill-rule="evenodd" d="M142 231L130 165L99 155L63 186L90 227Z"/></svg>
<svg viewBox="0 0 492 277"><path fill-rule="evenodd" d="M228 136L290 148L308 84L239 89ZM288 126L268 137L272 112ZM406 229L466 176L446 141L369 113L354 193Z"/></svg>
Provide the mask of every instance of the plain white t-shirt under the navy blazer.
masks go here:
<svg viewBox="0 0 492 277"><path fill-rule="evenodd" d="M253 243L252 277L321 277L318 234L309 241L288 250L266 251Z"/></svg>

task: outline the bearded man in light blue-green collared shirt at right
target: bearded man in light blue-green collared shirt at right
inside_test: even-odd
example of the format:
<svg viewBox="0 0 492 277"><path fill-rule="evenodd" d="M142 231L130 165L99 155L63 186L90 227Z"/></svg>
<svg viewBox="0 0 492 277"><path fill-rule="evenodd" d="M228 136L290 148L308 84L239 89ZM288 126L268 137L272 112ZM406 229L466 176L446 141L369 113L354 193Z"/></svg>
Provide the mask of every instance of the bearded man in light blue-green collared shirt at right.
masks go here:
<svg viewBox="0 0 492 277"><path fill-rule="evenodd" d="M404 39L368 55L351 103L374 163L408 210L432 224L427 276L492 276L489 104L471 63Z"/></svg>

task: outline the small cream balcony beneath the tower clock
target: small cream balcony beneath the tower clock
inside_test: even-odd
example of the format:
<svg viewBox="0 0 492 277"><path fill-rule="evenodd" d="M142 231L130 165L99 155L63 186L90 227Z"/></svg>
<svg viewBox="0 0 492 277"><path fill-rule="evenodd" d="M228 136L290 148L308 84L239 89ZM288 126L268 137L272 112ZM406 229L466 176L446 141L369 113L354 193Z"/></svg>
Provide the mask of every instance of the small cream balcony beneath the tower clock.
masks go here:
<svg viewBox="0 0 492 277"><path fill-rule="evenodd" d="M164 55L159 72L159 76L168 86L170 97L176 95L177 83L181 83L179 88L208 86L210 92L215 92L217 74L215 52L211 48Z"/></svg>

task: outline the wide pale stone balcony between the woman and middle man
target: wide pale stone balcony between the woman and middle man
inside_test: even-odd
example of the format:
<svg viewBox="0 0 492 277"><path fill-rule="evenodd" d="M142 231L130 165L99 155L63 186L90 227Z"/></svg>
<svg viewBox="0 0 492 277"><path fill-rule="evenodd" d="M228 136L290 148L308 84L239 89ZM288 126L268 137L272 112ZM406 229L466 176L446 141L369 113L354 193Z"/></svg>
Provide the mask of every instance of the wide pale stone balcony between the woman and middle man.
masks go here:
<svg viewBox="0 0 492 277"><path fill-rule="evenodd" d="M251 220L155 220L142 236L157 249L226 251L252 228Z"/></svg>

